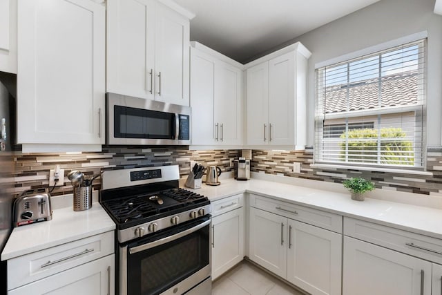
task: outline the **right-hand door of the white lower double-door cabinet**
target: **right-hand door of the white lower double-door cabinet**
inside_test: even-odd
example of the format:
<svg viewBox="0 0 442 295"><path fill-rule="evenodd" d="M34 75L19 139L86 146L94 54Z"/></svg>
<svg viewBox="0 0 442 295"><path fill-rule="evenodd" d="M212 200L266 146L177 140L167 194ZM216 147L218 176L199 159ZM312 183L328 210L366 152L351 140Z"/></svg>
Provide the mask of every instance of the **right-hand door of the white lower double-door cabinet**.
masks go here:
<svg viewBox="0 0 442 295"><path fill-rule="evenodd" d="M341 294L342 235L289 219L287 280L310 294Z"/></svg>

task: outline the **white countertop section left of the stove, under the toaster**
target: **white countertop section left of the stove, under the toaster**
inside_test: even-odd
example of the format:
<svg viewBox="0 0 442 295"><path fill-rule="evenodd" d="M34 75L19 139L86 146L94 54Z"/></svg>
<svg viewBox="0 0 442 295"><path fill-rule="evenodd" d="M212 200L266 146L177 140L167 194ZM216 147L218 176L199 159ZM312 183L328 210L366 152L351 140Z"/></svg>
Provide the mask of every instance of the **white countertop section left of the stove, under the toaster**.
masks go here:
<svg viewBox="0 0 442 295"><path fill-rule="evenodd" d="M73 211L72 207L55 209L52 212L52 220L15 227L1 253L1 260L114 229L115 223L97 202L84 211Z"/></svg>

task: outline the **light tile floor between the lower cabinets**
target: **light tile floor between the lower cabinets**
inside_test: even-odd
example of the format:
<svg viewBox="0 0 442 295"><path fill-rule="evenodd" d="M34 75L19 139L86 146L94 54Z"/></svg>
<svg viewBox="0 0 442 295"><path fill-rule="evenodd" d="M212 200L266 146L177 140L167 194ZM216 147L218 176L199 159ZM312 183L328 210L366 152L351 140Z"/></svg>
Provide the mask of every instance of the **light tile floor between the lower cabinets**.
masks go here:
<svg viewBox="0 0 442 295"><path fill-rule="evenodd" d="M243 260L215 280L212 295L302 295L296 289Z"/></svg>

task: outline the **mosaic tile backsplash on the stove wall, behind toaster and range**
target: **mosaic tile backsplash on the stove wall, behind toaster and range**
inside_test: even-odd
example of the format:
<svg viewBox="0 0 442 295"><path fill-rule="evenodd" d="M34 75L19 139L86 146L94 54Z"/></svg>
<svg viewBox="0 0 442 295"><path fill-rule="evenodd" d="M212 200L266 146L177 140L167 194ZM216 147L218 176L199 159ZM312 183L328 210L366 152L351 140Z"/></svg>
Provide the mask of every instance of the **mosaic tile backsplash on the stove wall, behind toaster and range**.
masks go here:
<svg viewBox="0 0 442 295"><path fill-rule="evenodd" d="M97 175L102 170L125 169L142 166L177 164L184 178L190 172L190 161L208 166L220 166L222 171L231 171L230 159L238 158L240 150L189 151L180 147L155 147L149 149L131 147L104 147L101 153L15 153L13 192L19 195L28 189L48 187L49 170L59 165L64 169L64 185L55 187L52 196L73 193L67 175L79 170L85 175ZM94 180L93 189L100 187L100 180Z"/></svg>

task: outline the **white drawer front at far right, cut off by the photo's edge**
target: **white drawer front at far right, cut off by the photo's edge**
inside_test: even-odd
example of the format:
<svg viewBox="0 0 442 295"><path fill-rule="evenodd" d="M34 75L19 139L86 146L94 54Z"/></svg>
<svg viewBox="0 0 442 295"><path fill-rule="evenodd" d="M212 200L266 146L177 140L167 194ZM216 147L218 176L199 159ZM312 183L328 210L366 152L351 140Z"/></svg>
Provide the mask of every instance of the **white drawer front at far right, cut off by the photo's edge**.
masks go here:
<svg viewBox="0 0 442 295"><path fill-rule="evenodd" d="M442 264L442 240L438 238L347 217L344 218L344 234Z"/></svg>

